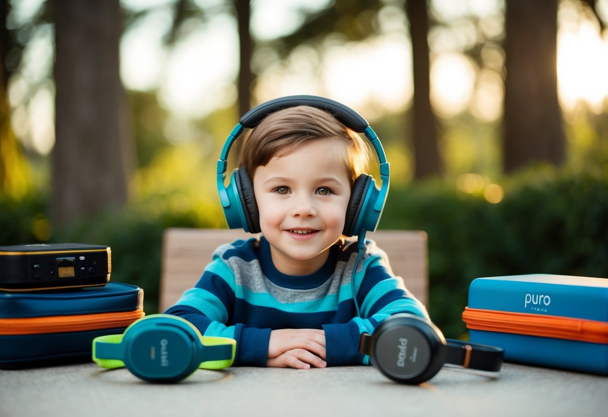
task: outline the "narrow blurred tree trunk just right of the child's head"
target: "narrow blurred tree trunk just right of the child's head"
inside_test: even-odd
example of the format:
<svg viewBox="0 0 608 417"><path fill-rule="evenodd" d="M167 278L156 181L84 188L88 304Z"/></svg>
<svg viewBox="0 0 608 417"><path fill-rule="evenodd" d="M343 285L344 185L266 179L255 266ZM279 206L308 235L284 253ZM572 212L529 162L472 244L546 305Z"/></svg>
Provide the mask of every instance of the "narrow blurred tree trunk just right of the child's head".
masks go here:
<svg viewBox="0 0 608 417"><path fill-rule="evenodd" d="M441 171L435 115L430 107L429 20L424 0L408 0L406 10L412 37L414 177L421 179Z"/></svg>

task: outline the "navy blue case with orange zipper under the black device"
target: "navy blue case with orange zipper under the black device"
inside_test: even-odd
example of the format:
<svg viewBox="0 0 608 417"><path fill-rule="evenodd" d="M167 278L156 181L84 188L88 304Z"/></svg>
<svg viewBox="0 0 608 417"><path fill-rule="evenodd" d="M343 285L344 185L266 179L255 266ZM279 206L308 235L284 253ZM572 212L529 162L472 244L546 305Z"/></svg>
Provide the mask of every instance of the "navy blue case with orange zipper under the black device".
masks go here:
<svg viewBox="0 0 608 417"><path fill-rule="evenodd" d="M0 369L91 360L92 340L143 317L143 290L125 283L0 292Z"/></svg>

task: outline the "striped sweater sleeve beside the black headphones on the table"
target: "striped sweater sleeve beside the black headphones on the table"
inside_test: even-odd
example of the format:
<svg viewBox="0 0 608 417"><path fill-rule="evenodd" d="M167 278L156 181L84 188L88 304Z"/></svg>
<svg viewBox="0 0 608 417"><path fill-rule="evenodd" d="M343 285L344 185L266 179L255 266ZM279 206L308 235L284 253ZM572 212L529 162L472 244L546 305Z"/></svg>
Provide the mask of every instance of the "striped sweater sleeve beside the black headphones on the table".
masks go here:
<svg viewBox="0 0 608 417"><path fill-rule="evenodd" d="M355 275L356 302L361 317L347 323L323 325L326 362L328 366L369 364L369 357L359 353L362 333L372 333L376 326L392 314L409 312L429 318L424 305L407 292L401 277L390 274L386 260L373 256Z"/></svg>

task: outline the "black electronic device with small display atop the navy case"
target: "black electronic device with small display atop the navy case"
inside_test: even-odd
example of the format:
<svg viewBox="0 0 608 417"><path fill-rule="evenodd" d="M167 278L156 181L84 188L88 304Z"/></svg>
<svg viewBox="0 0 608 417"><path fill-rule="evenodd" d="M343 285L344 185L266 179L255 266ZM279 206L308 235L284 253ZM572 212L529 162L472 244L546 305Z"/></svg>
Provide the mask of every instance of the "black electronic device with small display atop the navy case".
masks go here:
<svg viewBox="0 0 608 417"><path fill-rule="evenodd" d="M109 246L51 243L0 246L0 291L102 286L110 280Z"/></svg>

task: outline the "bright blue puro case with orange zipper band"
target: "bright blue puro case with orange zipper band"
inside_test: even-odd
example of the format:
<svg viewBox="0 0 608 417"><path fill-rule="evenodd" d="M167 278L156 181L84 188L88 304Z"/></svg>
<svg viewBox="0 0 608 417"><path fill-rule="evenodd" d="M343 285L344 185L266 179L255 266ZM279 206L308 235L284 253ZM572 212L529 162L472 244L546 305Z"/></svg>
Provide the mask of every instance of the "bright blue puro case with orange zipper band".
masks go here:
<svg viewBox="0 0 608 417"><path fill-rule="evenodd" d="M471 342L502 347L505 360L608 374L608 279L477 278L463 320Z"/></svg>

